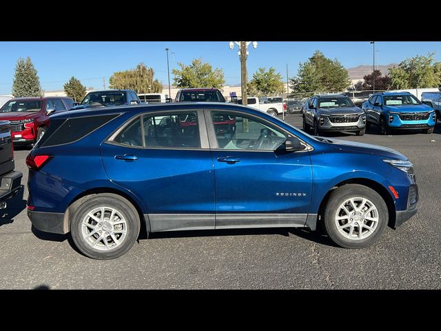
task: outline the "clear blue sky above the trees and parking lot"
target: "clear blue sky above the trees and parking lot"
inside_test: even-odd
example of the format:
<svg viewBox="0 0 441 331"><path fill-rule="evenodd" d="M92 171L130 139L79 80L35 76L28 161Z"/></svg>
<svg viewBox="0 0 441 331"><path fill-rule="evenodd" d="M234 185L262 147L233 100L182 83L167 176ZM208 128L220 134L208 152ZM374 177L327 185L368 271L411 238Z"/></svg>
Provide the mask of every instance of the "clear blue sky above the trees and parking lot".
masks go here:
<svg viewBox="0 0 441 331"><path fill-rule="evenodd" d="M39 73L43 90L61 90L63 83L74 76L83 85L103 88L115 71L134 68L144 62L155 70L155 77L167 85L167 57L165 48L170 48L170 71L177 62L188 64L201 57L213 67L222 68L226 85L240 83L240 63L237 46L229 50L228 41L139 41L139 42L0 42L0 94L10 94L14 67L19 57L30 56ZM372 45L369 41L258 41L258 48L249 46L249 77L259 67L273 66L286 79L297 73L298 63L307 61L315 50L326 57L337 58L343 66L351 68L372 65ZM441 42L377 41L376 56L380 65L399 63L416 54L435 52L441 61ZM172 81L173 76L170 73Z"/></svg>

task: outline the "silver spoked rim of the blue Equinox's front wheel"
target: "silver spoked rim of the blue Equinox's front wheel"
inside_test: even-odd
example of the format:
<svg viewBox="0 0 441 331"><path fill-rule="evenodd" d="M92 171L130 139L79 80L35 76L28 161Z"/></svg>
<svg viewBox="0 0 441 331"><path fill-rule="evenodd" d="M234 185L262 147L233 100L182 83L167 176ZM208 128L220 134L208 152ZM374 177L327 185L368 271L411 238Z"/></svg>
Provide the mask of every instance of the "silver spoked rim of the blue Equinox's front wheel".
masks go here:
<svg viewBox="0 0 441 331"><path fill-rule="evenodd" d="M362 240L371 236L378 227L378 219L376 205L361 197L343 202L335 217L338 232L351 240Z"/></svg>

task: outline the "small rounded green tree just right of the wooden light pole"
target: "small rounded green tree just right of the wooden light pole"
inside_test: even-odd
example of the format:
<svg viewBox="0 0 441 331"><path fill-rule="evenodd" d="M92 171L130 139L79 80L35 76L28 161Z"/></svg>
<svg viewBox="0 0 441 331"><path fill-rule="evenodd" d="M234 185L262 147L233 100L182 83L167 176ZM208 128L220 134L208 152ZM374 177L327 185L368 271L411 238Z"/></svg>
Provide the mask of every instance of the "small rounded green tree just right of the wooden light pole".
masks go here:
<svg viewBox="0 0 441 331"><path fill-rule="evenodd" d="M263 95L283 93L285 85L282 75L271 67L268 71L265 68L258 68L253 74L252 80L248 83L248 93L254 92L259 97Z"/></svg>

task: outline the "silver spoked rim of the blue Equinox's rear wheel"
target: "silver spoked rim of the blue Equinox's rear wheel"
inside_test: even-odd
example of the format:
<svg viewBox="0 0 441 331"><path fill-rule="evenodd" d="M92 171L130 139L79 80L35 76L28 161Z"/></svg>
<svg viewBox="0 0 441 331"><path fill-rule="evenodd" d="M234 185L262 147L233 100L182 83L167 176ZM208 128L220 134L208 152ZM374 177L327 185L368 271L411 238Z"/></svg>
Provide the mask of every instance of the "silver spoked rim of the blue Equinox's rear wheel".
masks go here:
<svg viewBox="0 0 441 331"><path fill-rule="evenodd" d="M94 208L84 217L81 232L85 242L95 250L114 250L127 237L127 222L119 210Z"/></svg>

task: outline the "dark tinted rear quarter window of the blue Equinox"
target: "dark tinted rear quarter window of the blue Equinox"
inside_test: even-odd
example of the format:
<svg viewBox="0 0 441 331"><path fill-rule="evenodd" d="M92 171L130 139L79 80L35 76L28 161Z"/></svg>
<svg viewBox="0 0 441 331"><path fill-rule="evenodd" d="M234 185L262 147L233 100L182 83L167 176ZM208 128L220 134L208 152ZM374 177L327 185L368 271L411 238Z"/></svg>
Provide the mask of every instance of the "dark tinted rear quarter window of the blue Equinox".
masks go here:
<svg viewBox="0 0 441 331"><path fill-rule="evenodd" d="M111 121L119 114L107 114L88 117L76 117L60 121L50 120L50 131L46 132L39 141L39 147L57 146L66 143L73 143L84 138L94 130ZM61 123L62 122L62 123ZM44 139L46 137L46 139Z"/></svg>

